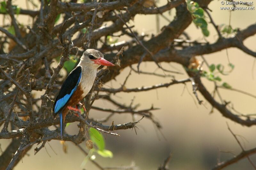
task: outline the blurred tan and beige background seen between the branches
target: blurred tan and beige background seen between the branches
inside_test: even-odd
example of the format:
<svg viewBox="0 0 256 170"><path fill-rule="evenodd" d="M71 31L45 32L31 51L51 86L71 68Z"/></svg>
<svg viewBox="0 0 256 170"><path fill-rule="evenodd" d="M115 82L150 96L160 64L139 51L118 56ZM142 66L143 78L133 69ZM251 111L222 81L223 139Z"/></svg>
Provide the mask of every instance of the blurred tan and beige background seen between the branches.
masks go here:
<svg viewBox="0 0 256 170"><path fill-rule="evenodd" d="M159 0L157 6L164 5L165 3L166 0ZM13 0L13 4L18 4L23 9L32 9L31 5L26 5L25 0ZM255 10L232 11L230 13L229 11L221 11L220 6L222 5L220 1L217 0L212 1L209 5L209 8L212 10L212 18L217 25L228 25L230 21L233 28L239 27L240 29L244 29L248 25L256 22ZM255 4L253 4L253 6L255 6ZM175 10L173 9L170 14L165 12L163 15L172 20L175 16ZM23 24L31 22L31 20L22 15L19 15L17 18L17 20ZM159 18L160 28L168 24L168 21L164 18L161 16ZM229 18L231 18L231 20L229 20ZM0 18L0 20L2 19L3 18ZM130 21L130 25L135 25L133 29L139 34L157 34L155 15L136 15L134 20ZM217 33L211 24L209 24L209 31L210 36L206 39L209 42L214 42L217 39ZM191 36L192 40L204 41L201 30L197 29L193 23L186 29L186 32ZM127 37L118 38L118 41L122 40L127 40ZM255 51L255 41L256 36L252 36L246 39L244 43L245 46ZM253 69L255 59L236 48L229 48L227 51L229 60L235 65L235 69L228 76L220 75L222 81L228 82L233 88L256 95L256 68ZM210 64L221 63L224 66L228 65L226 50L205 55L204 57ZM202 60L200 57L197 57L197 59ZM177 80L187 78L186 73L180 65L175 63L162 63L162 65L165 68L172 70L177 69L182 72L183 75L175 75ZM136 65L133 67L135 68ZM148 72L156 71L156 73L163 74L161 70L157 70L156 65L152 62L142 63L140 69ZM203 69L208 71L205 64L203 65ZM130 68L125 68L122 74L116 77L116 81L112 80L106 85L113 88L120 87L120 84L123 83L129 71ZM65 74L64 70L62 72ZM132 72L126 87L150 86L170 81L170 77L160 78ZM213 90L212 82L203 79L203 83L209 91ZM139 109L150 108L152 104L155 107L160 107L160 110L153 111L153 113L154 117L161 123L163 128L159 131L150 120L144 118L137 125L137 135L134 129L117 131L120 137L104 134L106 149L112 151L114 157L112 159L103 158L95 154L95 161L103 167L136 165L142 170L156 170L169 153L172 152L172 158L168 164L171 169L211 169L216 165L217 159L220 159L220 161L230 159L233 157L233 154L241 152L236 140L228 131L227 123L235 134L242 136L239 139L245 149L256 147L255 126L250 128L243 127L222 117L217 110L213 110L213 113L210 113L211 105L205 102L200 94L199 98L204 100L205 106L198 105L197 102L195 104L191 83L187 83L187 89L185 89L184 92L183 89L184 85L179 84L170 86L169 88L147 92L116 94L114 99L121 103L126 103L127 105L130 104L133 97L135 97L134 103L140 103ZM253 114L256 112L255 98L226 89L220 89L220 92L224 100L232 101L236 110L244 114ZM96 101L94 104L105 108L114 108L113 105L107 102ZM108 113L106 112L90 111L90 117L98 119L106 117L107 115ZM110 125L112 121L114 121L115 124L122 124L132 120L139 120L140 118L141 116L132 117L131 114L120 114L112 117L106 124ZM66 131L69 134L76 134L79 130L76 124L77 123L72 123L66 128ZM2 150L7 147L10 141L11 139L0 139ZM56 154L52 151L49 144ZM67 142L67 153L63 152L60 141L52 140L49 144L47 143L45 145L49 155L45 149L42 149L34 155L35 145L27 155L23 155L23 162L20 161L15 169L97 169L90 161L88 161L85 166L81 166L85 155L73 143ZM85 142L80 145L86 149ZM87 149L86 151L89 152ZM256 162L256 155L251 156L251 158ZM228 166L226 169L252 168L248 160L243 159L236 164Z"/></svg>

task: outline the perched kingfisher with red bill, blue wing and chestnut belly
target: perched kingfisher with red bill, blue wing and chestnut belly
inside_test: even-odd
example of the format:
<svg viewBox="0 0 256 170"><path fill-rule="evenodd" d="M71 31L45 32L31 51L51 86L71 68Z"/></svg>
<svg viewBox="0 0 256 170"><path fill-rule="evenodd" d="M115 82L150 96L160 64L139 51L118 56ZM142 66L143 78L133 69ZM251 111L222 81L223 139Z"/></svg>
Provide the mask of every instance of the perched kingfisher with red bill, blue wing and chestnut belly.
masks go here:
<svg viewBox="0 0 256 170"><path fill-rule="evenodd" d="M77 104L81 104L80 101L91 90L100 65L115 66L105 60L100 51L87 49L80 58L78 65L68 74L63 82L52 108L53 117L55 118L57 115L60 117L61 140L63 140L64 122L68 110L78 111L81 114ZM76 108L72 106L76 106Z"/></svg>

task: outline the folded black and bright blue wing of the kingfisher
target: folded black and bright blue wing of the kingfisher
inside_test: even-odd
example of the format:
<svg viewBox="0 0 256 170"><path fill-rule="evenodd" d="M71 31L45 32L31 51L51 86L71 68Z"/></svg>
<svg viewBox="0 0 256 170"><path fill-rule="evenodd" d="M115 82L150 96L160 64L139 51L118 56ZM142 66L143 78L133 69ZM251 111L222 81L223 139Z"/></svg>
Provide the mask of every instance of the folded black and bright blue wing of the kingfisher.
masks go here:
<svg viewBox="0 0 256 170"><path fill-rule="evenodd" d="M76 91L80 81L82 78L82 67L78 66L74 70L71 71L70 74L68 74L68 77L63 82L60 92L58 96L55 99L55 102L53 104L53 113L55 115L61 113L61 111L64 109L68 101L70 100L71 96Z"/></svg>

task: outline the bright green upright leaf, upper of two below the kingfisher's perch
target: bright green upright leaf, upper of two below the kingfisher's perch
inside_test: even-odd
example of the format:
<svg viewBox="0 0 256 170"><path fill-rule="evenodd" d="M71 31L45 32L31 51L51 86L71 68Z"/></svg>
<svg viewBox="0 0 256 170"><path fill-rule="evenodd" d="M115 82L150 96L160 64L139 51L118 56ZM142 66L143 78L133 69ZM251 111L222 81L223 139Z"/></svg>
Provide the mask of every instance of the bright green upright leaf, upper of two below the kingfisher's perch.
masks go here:
<svg viewBox="0 0 256 170"><path fill-rule="evenodd" d="M89 135L93 144L95 144L100 151L103 151L105 149L105 141L102 134L96 129L91 127L89 129Z"/></svg>

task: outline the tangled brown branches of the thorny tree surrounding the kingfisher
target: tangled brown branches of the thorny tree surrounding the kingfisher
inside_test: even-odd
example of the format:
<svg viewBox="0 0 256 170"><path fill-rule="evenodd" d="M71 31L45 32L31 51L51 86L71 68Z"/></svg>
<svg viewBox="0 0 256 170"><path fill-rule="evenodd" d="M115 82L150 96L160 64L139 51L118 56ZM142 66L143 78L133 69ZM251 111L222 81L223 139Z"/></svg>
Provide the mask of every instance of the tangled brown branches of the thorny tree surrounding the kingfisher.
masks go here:
<svg viewBox="0 0 256 170"><path fill-rule="evenodd" d="M244 45L245 39L256 34L256 24L253 23L247 28L235 32L233 36L222 37L214 18L207 11L210 0L196 2L205 9L210 22L216 29L219 36L216 42L197 42L196 40L181 39L184 30L191 25L193 20L184 0L167 1L165 5L160 7L146 7L143 0L95 0L87 3L74 3L76 1L73 0L70 2L41 0L38 9L20 9L20 11L13 8L14 1L8 0L6 2L6 11L1 10L0 12L3 15L8 14L10 17L10 22L6 22L5 25L0 27L0 32L2 33L0 36L0 125L3 125L0 138L12 139L12 141L10 142L10 147L7 147L4 151L4 157L1 157L0 169L12 169L22 158L22 154L24 156L34 144L41 143L41 146L35 150L35 153L37 153L44 147L46 141L60 140L58 128L55 130L48 129L51 125L60 124L58 119L54 120L51 117L52 103L65 78L65 76L61 76L67 70L64 66L65 61L68 61L71 55L76 58L83 54L84 49L78 50L78 47L83 47L86 39L86 48L93 45L94 48L100 49L106 54L105 58L115 63L116 67L104 67L99 70L94 83L95 87L87 95L85 105L89 108L88 112L92 108L93 110L101 110L110 114L100 120L95 120L91 115L79 115L79 117L68 115L66 123L80 122L80 128L93 127L103 133L118 136L115 130L136 128L136 124L140 120L118 125L112 124L110 126L102 123L113 121L113 115L128 113L146 117L158 128L161 128L160 123L154 119L152 113L158 108L152 106L149 109L138 110L137 105L133 106L133 102L131 102L130 106L127 106L113 100L112 96L119 92L141 92L163 87L167 88L174 84L190 84L191 82L193 93L199 104L206 100L211 104L212 108L216 108L224 117L248 127L256 125L256 119L250 116L245 119L240 115L236 115L228 109L228 103L222 100L219 103L209 93L209 90L201 81L201 69L196 72L188 69L191 58L231 47L238 48L244 53L254 58L256 57L256 52ZM135 31L136 29L133 29L133 26L127 24L137 14L162 15L173 8L176 8L174 19L168 20L169 23L160 32L151 37L139 35ZM119 11L119 14L116 11ZM16 15L18 13L28 18L33 18L32 24L25 27L28 30L25 31L24 35L21 28L22 23L20 23ZM59 23L58 17L62 18ZM15 34L11 34L8 31L10 27L13 27ZM87 30L87 28L89 29ZM86 32L83 32L85 29ZM118 43L109 42L108 38L110 36L120 37L123 35L131 37L131 39ZM10 46L11 41L13 41L12 46ZM6 45L9 46L8 50ZM51 63L57 57L60 57L58 65L51 68ZM174 75L182 73L168 71L162 67L163 71L172 72L174 75L157 74L153 70L151 72L136 71L132 68L133 64L137 64L139 68L140 63L144 61L154 61L159 67L161 62L178 63L185 68L188 77L176 80ZM115 89L103 87L106 82L114 80L126 67L131 67L131 71L134 73L161 76L163 78L172 77L172 80L147 87L127 88L126 82L131 74L130 72L120 87ZM215 84L215 88L223 87ZM239 89L231 88L229 90L255 98L255 94ZM35 92L38 91L43 92L41 97L35 95ZM200 96L199 99L197 93L201 93L204 98ZM220 97L220 94L218 95ZM98 107L94 105L95 100L107 100L116 108ZM41 105L39 104L40 102ZM11 130L8 130L10 127ZM72 141L78 145L85 140L85 133L86 131L79 131L76 135L65 134L64 140ZM30 136L33 136L34 140ZM236 136L234 137L236 138ZM256 149L246 151L242 148L242 152L239 155L218 164L214 169L221 169L243 158L249 158L249 155L255 152ZM161 168L165 169L169 159L170 157L166 159Z"/></svg>

